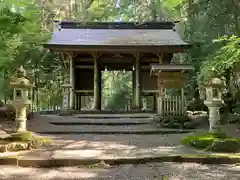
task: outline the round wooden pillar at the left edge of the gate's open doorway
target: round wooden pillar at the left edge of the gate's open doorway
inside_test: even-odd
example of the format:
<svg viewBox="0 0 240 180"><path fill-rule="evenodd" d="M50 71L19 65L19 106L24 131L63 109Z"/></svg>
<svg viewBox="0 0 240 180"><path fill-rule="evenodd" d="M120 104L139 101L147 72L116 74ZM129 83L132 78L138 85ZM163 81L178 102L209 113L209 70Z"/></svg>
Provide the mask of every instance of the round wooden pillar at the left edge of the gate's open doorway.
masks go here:
<svg viewBox="0 0 240 180"><path fill-rule="evenodd" d="M101 110L101 70L96 55L94 55L94 109Z"/></svg>

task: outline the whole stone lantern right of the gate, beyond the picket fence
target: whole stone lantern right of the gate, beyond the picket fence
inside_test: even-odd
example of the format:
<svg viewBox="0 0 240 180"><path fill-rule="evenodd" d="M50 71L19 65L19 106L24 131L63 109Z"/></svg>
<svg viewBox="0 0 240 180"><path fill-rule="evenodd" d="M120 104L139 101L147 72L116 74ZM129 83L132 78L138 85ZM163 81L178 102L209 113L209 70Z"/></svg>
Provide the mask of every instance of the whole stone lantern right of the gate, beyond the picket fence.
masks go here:
<svg viewBox="0 0 240 180"><path fill-rule="evenodd" d="M219 78L212 78L207 84L206 89L206 100L204 104L209 109L209 131L215 132L220 126L220 112L219 109L223 106L222 100L222 89L224 83Z"/></svg>

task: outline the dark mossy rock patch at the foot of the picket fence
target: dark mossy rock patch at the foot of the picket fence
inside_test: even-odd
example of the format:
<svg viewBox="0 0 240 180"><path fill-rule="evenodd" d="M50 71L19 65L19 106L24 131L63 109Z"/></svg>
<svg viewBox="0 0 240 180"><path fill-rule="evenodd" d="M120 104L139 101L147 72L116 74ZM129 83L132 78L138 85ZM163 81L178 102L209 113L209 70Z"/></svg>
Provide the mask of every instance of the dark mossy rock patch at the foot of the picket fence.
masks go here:
<svg viewBox="0 0 240 180"><path fill-rule="evenodd" d="M195 129L194 123L188 116L160 116L154 117L155 122L161 128L170 129Z"/></svg>

